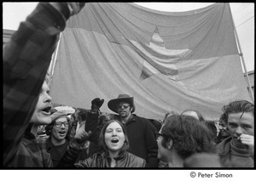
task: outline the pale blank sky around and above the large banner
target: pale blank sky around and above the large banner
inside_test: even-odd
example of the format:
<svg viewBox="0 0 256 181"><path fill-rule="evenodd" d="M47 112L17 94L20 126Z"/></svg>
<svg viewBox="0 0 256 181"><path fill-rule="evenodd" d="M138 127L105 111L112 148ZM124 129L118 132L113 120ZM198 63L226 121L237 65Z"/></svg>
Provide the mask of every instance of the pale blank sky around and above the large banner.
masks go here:
<svg viewBox="0 0 256 181"><path fill-rule="evenodd" d="M17 30L20 21L36 7L37 2L3 3L3 29ZM204 8L212 3L137 3L145 8L167 12ZM254 3L230 3L238 40L247 71L254 71Z"/></svg>

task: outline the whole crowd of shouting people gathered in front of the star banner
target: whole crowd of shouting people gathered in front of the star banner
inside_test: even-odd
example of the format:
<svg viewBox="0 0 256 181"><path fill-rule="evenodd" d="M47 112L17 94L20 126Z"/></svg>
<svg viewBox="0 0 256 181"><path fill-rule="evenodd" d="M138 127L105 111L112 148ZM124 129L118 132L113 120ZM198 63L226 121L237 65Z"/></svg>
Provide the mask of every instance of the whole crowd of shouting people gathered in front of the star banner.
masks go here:
<svg viewBox="0 0 256 181"><path fill-rule="evenodd" d="M247 100L223 105L218 124L200 110L137 116L126 93L108 101L113 113L100 110L99 98L70 114L52 107L51 55L84 4L38 3L3 47L3 167L254 167Z"/></svg>

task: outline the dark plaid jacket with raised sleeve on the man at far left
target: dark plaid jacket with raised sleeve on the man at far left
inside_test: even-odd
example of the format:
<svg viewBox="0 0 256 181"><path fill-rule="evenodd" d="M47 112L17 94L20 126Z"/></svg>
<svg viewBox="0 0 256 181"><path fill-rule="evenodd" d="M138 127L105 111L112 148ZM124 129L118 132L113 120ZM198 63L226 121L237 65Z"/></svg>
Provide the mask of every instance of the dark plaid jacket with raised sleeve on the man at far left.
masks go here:
<svg viewBox="0 0 256 181"><path fill-rule="evenodd" d="M38 3L3 47L3 167L49 166L40 144L24 133L65 25L49 3Z"/></svg>

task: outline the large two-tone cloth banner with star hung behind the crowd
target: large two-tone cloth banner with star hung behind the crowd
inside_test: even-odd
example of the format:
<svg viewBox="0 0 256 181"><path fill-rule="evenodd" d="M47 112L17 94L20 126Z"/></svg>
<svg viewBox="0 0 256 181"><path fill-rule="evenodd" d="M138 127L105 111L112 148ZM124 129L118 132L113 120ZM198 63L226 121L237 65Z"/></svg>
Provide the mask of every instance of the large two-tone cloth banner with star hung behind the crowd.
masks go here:
<svg viewBox="0 0 256 181"><path fill-rule="evenodd" d="M217 121L223 105L249 99L228 3L160 12L134 3L86 3L67 21L56 52L53 102L90 109L96 97L134 97L135 114L199 110Z"/></svg>

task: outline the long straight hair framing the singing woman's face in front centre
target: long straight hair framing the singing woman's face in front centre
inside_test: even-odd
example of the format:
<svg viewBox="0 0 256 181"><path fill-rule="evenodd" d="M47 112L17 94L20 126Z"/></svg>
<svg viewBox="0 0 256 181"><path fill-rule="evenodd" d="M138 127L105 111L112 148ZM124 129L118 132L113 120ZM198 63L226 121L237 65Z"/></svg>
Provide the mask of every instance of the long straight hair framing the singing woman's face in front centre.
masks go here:
<svg viewBox="0 0 256 181"><path fill-rule="evenodd" d="M106 153L108 153L108 147L107 147L107 144L105 143L105 132L106 132L106 129L108 127L109 124L111 124L112 122L117 122L119 123L119 125L122 127L123 129L123 133L125 134L125 143L123 145L123 147L121 148L120 152L122 151L125 151L125 150L128 150L129 149L129 141L128 141L128 138L127 138L127 134L126 134L126 130L125 130L125 127L124 125L119 122L118 120L109 120L108 122L106 122L106 124L102 127L102 131L100 133L100 136L99 136L99 146L100 148L105 151Z"/></svg>

